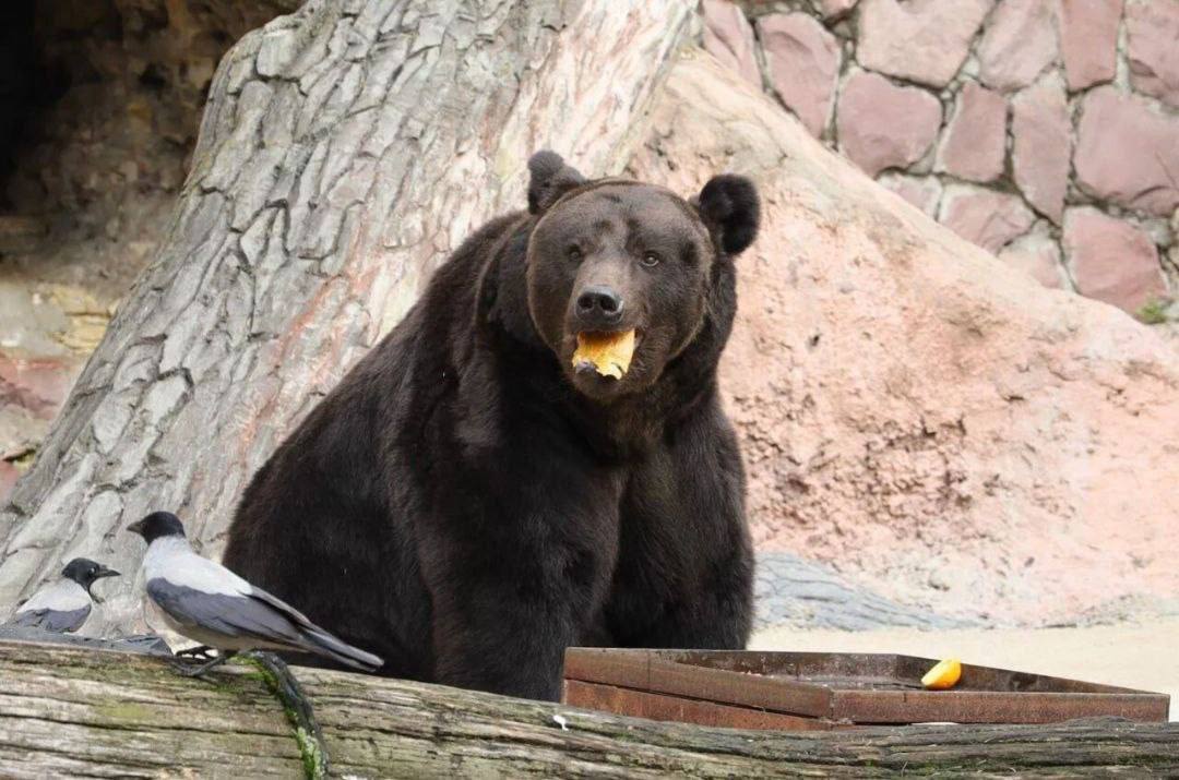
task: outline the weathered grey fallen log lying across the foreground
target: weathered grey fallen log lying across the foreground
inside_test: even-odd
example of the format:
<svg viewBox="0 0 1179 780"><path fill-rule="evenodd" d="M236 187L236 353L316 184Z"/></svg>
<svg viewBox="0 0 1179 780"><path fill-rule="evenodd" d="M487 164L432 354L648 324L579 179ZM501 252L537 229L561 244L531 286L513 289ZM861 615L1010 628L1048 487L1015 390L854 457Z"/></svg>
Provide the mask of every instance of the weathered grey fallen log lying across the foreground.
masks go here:
<svg viewBox="0 0 1179 780"><path fill-rule="evenodd" d="M1179 723L740 732L317 669L296 669L296 675L314 702L335 776L1179 772ZM282 707L249 667L206 682L176 675L160 659L0 642L0 776L292 778L302 772Z"/></svg>

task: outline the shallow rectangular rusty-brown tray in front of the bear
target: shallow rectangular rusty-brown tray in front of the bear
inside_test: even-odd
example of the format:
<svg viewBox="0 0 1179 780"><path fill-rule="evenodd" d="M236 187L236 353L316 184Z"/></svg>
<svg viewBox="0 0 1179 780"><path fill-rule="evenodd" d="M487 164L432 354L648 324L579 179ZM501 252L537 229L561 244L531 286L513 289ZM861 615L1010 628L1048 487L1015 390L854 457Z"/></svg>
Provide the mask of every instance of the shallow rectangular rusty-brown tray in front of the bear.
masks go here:
<svg viewBox="0 0 1179 780"><path fill-rule="evenodd" d="M565 653L562 701L653 720L769 729L1167 720L1165 694L966 663L950 690L924 690L921 676L936 662L893 654L573 647Z"/></svg>

